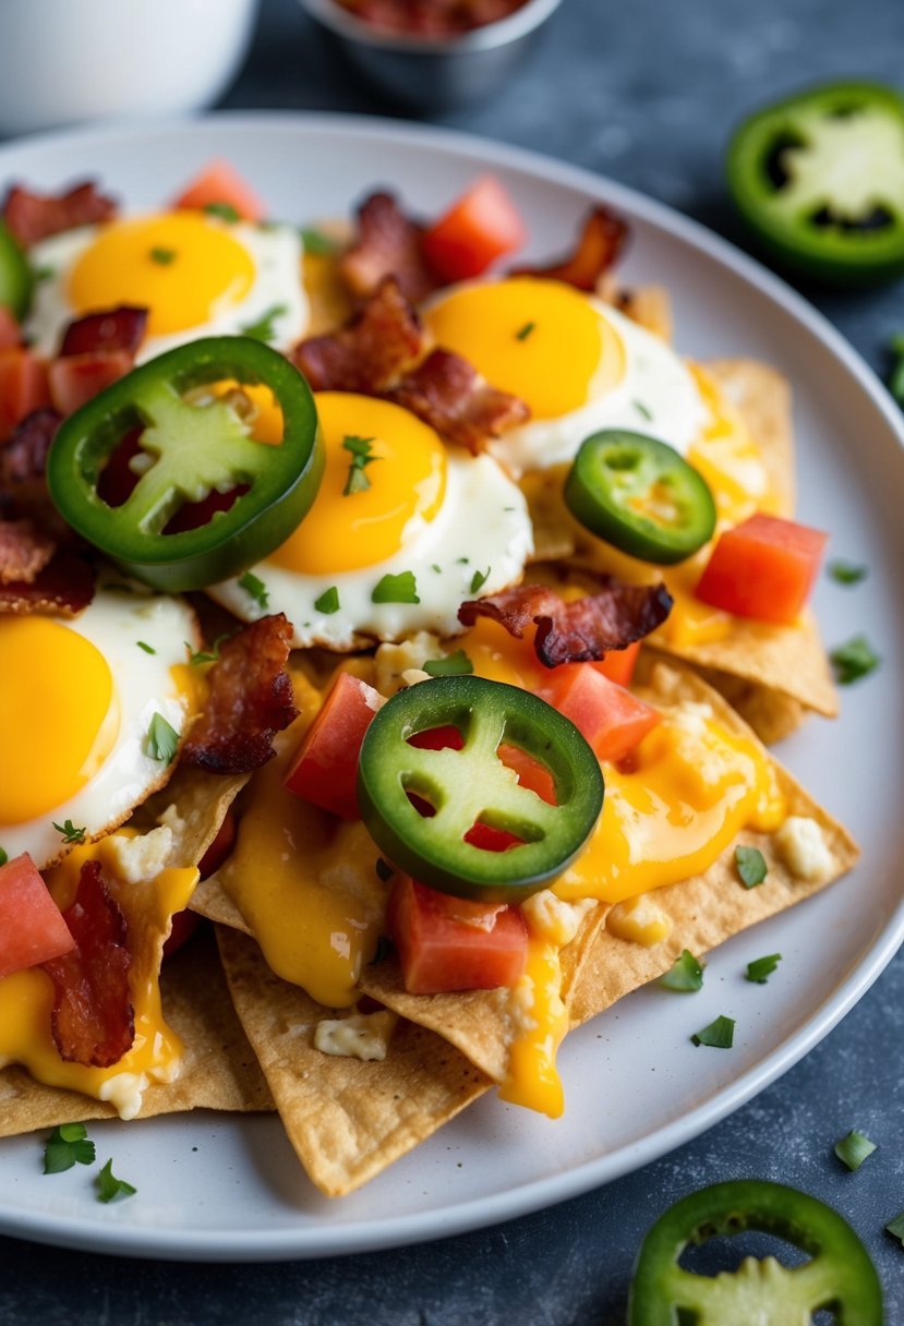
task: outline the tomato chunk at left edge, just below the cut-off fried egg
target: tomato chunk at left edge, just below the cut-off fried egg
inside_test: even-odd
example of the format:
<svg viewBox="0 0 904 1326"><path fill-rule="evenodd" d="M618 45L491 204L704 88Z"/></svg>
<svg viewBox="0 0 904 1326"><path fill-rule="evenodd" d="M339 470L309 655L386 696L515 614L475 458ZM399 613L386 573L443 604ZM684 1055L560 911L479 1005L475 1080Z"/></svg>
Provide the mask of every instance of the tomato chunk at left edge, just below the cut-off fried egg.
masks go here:
<svg viewBox="0 0 904 1326"><path fill-rule="evenodd" d="M0 976L62 957L74 947L62 912L28 853L0 866Z"/></svg>

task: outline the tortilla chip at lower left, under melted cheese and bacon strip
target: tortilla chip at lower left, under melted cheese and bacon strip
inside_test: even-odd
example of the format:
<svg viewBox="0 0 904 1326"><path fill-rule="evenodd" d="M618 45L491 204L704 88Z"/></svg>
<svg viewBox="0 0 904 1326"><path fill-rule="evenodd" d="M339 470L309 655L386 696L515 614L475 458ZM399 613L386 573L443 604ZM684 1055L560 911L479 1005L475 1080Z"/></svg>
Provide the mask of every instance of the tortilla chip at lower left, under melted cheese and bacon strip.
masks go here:
<svg viewBox="0 0 904 1326"><path fill-rule="evenodd" d="M272 1110L273 1099L229 1001L209 935L199 935L167 960L162 991L164 1014L186 1054L176 1082L148 1086L138 1118L184 1110ZM24 1069L0 1073L0 1136L115 1118L111 1105L42 1086Z"/></svg>

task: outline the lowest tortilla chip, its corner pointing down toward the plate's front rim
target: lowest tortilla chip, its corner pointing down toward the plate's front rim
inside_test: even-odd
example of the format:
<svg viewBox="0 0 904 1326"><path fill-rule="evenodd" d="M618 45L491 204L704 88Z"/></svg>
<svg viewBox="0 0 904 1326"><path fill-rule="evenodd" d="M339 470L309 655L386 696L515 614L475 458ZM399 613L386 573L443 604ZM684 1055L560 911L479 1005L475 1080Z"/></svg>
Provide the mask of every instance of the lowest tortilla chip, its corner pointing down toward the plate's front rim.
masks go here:
<svg viewBox="0 0 904 1326"><path fill-rule="evenodd" d="M229 993L289 1140L327 1196L372 1179L490 1085L451 1045L406 1021L384 1059L323 1054L314 1049L314 1032L331 1010L274 976L253 940L223 928L217 940Z"/></svg>

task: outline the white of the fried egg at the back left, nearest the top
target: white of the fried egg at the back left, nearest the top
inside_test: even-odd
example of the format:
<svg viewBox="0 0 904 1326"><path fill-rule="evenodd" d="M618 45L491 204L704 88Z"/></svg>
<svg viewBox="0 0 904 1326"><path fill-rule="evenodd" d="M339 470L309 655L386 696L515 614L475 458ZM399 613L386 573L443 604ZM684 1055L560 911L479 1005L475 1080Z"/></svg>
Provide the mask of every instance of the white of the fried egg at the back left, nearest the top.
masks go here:
<svg viewBox="0 0 904 1326"><path fill-rule="evenodd" d="M168 335L146 337L135 357L138 363L152 359L164 350L198 341L205 335L241 335L272 310L273 337L269 345L288 350L304 335L309 321L309 304L301 281L301 237L292 225L235 224L209 217L208 224L228 232L251 256L254 281L239 304L224 304L205 322ZM81 225L41 240L29 251L29 260L38 273L25 334L40 355L52 357L60 350L66 326L77 314L66 296L69 273L101 233L98 225ZM98 310L99 312L99 310Z"/></svg>

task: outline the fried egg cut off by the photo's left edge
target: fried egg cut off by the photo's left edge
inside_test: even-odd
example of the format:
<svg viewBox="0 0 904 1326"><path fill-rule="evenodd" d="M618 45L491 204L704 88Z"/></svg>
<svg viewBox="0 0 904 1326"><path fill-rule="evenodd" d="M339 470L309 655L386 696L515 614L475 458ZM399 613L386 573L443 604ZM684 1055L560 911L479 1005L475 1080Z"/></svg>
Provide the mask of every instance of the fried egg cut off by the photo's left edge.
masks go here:
<svg viewBox="0 0 904 1326"><path fill-rule="evenodd" d="M74 621L0 617L0 847L38 869L64 851L66 821L85 838L115 827L170 774L160 721L191 712L191 609L174 598L98 590ZM155 721L155 715L159 720ZM162 757L156 757L160 756Z"/></svg>

